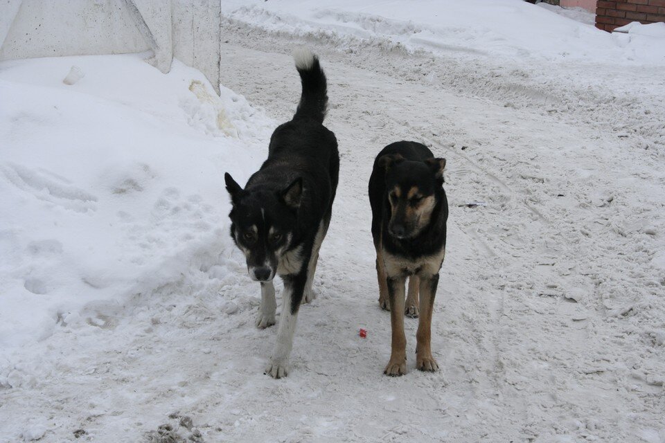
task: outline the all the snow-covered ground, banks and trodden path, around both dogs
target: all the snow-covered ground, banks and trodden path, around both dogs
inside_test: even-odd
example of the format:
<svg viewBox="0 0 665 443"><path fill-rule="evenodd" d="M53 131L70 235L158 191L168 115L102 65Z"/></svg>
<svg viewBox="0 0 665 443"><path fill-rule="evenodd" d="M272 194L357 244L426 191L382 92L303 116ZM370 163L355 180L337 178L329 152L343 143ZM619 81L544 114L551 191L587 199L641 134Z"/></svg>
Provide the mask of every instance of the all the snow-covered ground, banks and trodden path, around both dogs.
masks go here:
<svg viewBox="0 0 665 443"><path fill-rule="evenodd" d="M141 55L0 63L0 442L665 442L659 27L407 4L224 2L220 99ZM297 44L342 170L276 381L222 175L244 182L292 116ZM441 371L409 354L391 379L366 183L400 139L447 158L451 215Z"/></svg>

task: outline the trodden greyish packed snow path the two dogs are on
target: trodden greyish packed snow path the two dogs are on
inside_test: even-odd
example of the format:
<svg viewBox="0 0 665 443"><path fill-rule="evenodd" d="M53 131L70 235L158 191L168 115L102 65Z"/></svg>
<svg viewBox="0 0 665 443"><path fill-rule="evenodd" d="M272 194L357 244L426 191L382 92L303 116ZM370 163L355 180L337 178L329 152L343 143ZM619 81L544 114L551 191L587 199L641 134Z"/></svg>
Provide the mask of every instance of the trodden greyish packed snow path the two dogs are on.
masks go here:
<svg viewBox="0 0 665 443"><path fill-rule="evenodd" d="M276 123L290 118L297 42L224 32L222 84ZM136 441L177 430L181 414L206 442L662 442L662 96L603 103L601 88L578 96L552 80L544 91L425 54L314 51L342 168L289 377L262 373L276 329L254 327L258 285L225 239L217 264L100 307L99 331L43 343L62 359L0 391L0 440L23 428L49 442L79 430L79 441ZM614 128L629 117L635 133ZM375 154L402 139L447 158L451 213L432 331L441 370L415 370L407 318L409 373L393 379L366 186Z"/></svg>

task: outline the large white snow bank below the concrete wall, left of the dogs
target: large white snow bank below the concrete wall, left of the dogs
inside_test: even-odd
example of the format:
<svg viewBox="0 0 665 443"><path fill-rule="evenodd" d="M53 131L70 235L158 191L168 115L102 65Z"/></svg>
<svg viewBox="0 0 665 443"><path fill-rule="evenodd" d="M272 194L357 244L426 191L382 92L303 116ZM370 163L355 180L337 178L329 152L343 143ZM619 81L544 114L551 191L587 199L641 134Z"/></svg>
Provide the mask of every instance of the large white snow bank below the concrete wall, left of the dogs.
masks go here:
<svg viewBox="0 0 665 443"><path fill-rule="evenodd" d="M64 84L72 66L84 76ZM18 347L103 325L229 249L223 172L247 179L274 125L139 55L3 62L0 96L0 385L15 386Z"/></svg>

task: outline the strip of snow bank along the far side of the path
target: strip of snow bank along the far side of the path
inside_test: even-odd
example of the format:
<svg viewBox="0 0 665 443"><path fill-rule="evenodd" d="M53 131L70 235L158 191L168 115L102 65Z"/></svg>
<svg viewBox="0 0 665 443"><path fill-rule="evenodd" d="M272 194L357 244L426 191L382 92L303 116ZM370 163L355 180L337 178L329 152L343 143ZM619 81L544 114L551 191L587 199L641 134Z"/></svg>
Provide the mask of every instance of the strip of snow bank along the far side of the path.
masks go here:
<svg viewBox="0 0 665 443"><path fill-rule="evenodd" d="M469 57L665 64L662 39L623 39L522 0L353 0L222 3L231 21L300 37L350 39ZM635 37L635 36L632 36Z"/></svg>

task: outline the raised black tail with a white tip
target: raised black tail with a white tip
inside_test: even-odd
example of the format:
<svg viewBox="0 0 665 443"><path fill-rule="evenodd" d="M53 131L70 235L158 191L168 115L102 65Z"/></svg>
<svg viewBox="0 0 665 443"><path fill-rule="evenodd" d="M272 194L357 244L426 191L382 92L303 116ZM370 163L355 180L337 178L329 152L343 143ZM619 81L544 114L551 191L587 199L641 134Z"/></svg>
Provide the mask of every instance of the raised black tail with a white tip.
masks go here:
<svg viewBox="0 0 665 443"><path fill-rule="evenodd" d="M293 58L303 84L300 103L293 118L313 118L323 123L328 108L328 89L319 58L307 48L296 49Z"/></svg>

